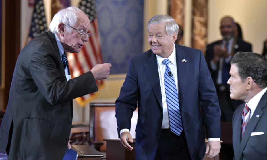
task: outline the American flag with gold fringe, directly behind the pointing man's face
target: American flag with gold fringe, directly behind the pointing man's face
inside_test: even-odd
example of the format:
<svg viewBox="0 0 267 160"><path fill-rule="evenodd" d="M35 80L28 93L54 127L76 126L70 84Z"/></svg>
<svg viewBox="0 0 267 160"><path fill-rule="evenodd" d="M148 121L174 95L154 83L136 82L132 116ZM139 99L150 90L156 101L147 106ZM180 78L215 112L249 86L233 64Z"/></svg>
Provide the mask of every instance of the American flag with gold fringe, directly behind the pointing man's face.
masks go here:
<svg viewBox="0 0 267 160"><path fill-rule="evenodd" d="M92 69L96 64L103 63L101 54L100 35L98 31L98 20L96 18L96 5L94 0L81 0L78 7L84 11L89 17L90 23L90 37L78 54L69 53L69 69L72 77L78 77L83 73L86 73ZM98 88L104 84L104 81L97 81ZM83 97L76 98L76 101L80 106L85 106L97 93L91 93Z"/></svg>

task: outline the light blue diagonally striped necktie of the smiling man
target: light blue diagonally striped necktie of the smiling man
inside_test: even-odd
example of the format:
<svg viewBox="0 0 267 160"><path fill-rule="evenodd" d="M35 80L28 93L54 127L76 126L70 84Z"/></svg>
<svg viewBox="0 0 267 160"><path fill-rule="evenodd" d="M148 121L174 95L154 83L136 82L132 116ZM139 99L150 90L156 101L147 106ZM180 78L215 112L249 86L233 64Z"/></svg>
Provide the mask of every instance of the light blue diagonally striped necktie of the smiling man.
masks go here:
<svg viewBox="0 0 267 160"><path fill-rule="evenodd" d="M179 106L178 92L169 67L170 62L171 61L169 59L163 60L163 63L166 65L164 73L165 93L169 112L170 129L173 133L180 136L183 131L183 123Z"/></svg>

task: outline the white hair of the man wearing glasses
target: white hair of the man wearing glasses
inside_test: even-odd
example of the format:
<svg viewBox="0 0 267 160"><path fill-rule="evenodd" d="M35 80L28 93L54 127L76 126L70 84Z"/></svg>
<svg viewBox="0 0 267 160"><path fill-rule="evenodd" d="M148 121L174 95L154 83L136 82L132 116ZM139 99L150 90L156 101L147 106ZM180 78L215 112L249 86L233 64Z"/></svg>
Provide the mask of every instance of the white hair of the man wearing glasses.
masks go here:
<svg viewBox="0 0 267 160"><path fill-rule="evenodd" d="M52 33L59 33L58 25L60 23L68 24L70 26L75 25L77 22L77 17L79 12L82 12L82 10L79 9L78 7L73 7L73 6L61 9L54 15L49 25L50 31ZM65 25L65 29L66 32L68 33L72 31L72 28L70 28L67 25Z"/></svg>

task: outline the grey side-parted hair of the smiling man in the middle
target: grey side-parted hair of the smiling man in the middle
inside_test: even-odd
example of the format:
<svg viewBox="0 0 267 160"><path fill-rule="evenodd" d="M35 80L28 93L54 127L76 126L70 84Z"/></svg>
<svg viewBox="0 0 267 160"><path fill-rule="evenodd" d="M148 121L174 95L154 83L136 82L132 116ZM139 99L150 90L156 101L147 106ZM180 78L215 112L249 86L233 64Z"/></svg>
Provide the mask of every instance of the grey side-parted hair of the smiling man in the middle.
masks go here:
<svg viewBox="0 0 267 160"><path fill-rule="evenodd" d="M179 26L175 22L173 17L171 17L169 15L158 14L158 15L153 16L148 21L147 29L149 28L150 24L160 24L160 23L163 23L163 22L166 22L165 23L165 31L167 32L167 34L172 36L174 33L176 33L176 35L178 35Z"/></svg>

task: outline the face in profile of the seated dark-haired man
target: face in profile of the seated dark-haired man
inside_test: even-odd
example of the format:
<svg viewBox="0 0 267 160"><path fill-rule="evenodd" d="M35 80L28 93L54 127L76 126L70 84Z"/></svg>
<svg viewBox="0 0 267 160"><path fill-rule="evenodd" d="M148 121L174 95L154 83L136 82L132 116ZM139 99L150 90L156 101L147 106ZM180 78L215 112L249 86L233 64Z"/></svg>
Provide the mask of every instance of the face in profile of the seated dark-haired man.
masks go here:
<svg viewBox="0 0 267 160"><path fill-rule="evenodd" d="M230 78L227 83L230 85L230 98L245 101L248 95L247 83L239 76L236 64L231 65Z"/></svg>

